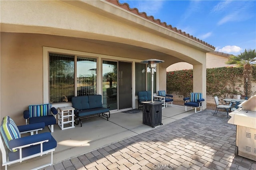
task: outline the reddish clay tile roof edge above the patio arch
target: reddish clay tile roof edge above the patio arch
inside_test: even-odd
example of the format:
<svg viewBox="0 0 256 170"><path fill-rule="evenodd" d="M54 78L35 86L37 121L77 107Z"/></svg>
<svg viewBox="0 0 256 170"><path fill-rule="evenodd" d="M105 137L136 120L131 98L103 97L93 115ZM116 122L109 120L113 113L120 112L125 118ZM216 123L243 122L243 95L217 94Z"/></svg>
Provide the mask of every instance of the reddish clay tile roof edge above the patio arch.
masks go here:
<svg viewBox="0 0 256 170"><path fill-rule="evenodd" d="M164 27L166 27L166 28L168 28L168 29L170 29L172 31L176 31L177 33L180 33L181 35L184 35L184 36L186 36L186 37L188 37L190 39L193 39L193 40L195 40L195 41L197 41L197 42L199 42L199 43L201 43L203 45L206 45L206 46L208 46L208 47L210 47L212 49L215 49L214 46L212 46L212 45L210 45L210 44L208 44L208 43L206 43L206 42L204 42L204 41L202 41L202 40L200 40L200 39L198 39L196 37L193 37L193 35L189 35L188 33L184 32L184 31L182 31L180 29L177 29L176 27L172 27L172 25L167 25L166 22L161 22L161 20L159 20L159 19L154 19L153 16L148 16L146 14L146 12L139 12L139 10L137 8L130 8L129 4L127 4L127 3L120 4L120 2L118 0L106 0L106 1L112 3L112 4L116 5L116 6L119 6L119 7L123 8L123 9L125 9L125 10L128 10L128 11L130 11L130 12L132 12L132 13L138 15L138 16L146 18L147 20L150 20L150 21L153 21L153 22L155 22L155 23L157 23L159 25L162 25L162 26L164 26Z"/></svg>

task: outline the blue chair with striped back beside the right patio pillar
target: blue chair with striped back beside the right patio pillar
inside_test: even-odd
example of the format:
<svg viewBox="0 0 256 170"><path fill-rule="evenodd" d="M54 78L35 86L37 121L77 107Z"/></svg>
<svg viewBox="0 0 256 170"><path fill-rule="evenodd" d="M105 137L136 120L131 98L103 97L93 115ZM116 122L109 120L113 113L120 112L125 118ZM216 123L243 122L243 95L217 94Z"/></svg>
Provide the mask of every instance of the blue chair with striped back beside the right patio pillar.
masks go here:
<svg viewBox="0 0 256 170"><path fill-rule="evenodd" d="M202 96L202 93L190 93L189 98L183 98L183 100L185 101L185 111L187 111L187 106L194 107L195 113L202 111L202 105L204 102ZM200 107L200 111L196 111L196 108L198 107Z"/></svg>

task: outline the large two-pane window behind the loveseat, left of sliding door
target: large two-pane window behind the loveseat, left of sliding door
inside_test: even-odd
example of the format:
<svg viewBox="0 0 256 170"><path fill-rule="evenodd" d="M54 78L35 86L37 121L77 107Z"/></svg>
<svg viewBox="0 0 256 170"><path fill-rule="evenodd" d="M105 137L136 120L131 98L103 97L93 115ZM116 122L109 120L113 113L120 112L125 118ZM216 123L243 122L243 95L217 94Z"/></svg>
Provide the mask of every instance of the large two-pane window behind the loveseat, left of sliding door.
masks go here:
<svg viewBox="0 0 256 170"><path fill-rule="evenodd" d="M49 74L50 103L71 102L73 96L96 94L96 59L49 53Z"/></svg>

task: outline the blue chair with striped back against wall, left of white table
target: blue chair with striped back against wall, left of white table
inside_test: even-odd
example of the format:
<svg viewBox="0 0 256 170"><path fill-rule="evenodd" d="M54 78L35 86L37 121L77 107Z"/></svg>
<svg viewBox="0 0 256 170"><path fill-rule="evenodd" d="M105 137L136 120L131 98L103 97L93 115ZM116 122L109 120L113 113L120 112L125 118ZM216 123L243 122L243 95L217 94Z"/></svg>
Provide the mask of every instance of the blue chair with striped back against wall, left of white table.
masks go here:
<svg viewBox="0 0 256 170"><path fill-rule="evenodd" d="M26 119L26 125L28 123L44 122L44 124L49 127L50 131L53 132L57 113L57 109L52 107L51 104L38 104L28 106L28 110L23 112L23 117Z"/></svg>

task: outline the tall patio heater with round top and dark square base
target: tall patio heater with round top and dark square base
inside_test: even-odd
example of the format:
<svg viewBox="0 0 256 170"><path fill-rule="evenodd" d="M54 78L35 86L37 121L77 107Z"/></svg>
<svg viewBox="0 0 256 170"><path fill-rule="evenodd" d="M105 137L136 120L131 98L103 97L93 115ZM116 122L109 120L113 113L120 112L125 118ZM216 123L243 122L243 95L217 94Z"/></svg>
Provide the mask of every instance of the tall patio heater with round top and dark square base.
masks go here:
<svg viewBox="0 0 256 170"><path fill-rule="evenodd" d="M154 90L154 68L156 68L157 63L163 63L162 60L157 59L149 59L144 60L141 63L147 63L148 67L151 68L152 75L152 90L151 90L151 102L143 103L143 116L142 123L145 125L149 125L151 127L155 127L156 125L162 125L162 104L163 102L153 102L153 90Z"/></svg>

